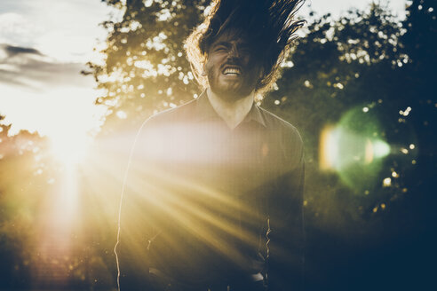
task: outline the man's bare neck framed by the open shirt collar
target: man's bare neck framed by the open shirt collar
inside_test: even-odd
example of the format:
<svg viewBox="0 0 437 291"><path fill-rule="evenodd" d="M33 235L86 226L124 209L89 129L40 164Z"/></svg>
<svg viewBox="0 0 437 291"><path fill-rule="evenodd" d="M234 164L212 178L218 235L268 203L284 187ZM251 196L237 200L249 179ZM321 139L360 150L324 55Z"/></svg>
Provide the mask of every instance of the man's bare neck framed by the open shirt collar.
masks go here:
<svg viewBox="0 0 437 291"><path fill-rule="evenodd" d="M236 100L220 98L211 89L206 92L211 106L231 130L244 120L253 104L253 91L248 96Z"/></svg>

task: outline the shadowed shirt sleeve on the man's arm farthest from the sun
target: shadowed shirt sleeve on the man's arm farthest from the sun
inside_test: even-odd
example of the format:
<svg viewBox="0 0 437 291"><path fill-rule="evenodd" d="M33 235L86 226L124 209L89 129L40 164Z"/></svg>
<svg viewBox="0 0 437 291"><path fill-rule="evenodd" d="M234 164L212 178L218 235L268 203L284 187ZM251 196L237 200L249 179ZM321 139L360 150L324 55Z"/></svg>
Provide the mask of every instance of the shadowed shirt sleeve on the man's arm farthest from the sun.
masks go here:
<svg viewBox="0 0 437 291"><path fill-rule="evenodd" d="M271 291L302 290L304 285L305 161L298 133L288 143L288 164L269 200L267 276Z"/></svg>

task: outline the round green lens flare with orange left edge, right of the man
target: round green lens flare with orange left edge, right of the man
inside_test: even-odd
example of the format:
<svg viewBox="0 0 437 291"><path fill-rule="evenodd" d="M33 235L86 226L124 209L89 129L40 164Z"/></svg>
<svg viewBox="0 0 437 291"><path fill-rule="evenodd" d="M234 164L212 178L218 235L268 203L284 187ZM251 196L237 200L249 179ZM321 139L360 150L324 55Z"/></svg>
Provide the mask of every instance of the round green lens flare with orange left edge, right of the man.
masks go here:
<svg viewBox="0 0 437 291"><path fill-rule="evenodd" d="M337 172L346 185L356 190L377 185L384 158L392 153L384 132L372 110L354 108L337 125L322 130L320 168Z"/></svg>

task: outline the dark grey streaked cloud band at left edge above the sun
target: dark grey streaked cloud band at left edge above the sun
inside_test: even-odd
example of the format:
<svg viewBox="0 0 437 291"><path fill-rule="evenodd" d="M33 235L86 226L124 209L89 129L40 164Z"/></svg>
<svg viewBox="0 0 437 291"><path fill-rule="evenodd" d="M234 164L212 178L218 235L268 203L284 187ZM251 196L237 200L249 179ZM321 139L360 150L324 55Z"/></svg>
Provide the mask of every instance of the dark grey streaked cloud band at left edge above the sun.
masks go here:
<svg viewBox="0 0 437 291"><path fill-rule="evenodd" d="M28 90L91 88L92 78L80 74L85 68L81 63L59 62L34 48L0 43L0 83Z"/></svg>

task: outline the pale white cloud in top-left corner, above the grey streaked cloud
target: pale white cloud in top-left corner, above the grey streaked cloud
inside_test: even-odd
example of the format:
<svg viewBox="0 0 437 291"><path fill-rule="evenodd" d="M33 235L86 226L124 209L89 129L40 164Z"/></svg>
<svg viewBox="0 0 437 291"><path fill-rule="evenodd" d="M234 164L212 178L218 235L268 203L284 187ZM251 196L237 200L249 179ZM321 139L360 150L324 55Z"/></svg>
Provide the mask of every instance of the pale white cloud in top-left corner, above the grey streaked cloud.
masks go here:
<svg viewBox="0 0 437 291"><path fill-rule="evenodd" d="M118 9L90 0L0 0L0 43L32 47L52 58L86 62L95 57L96 39L104 41L99 23ZM119 19L121 19L119 17Z"/></svg>

